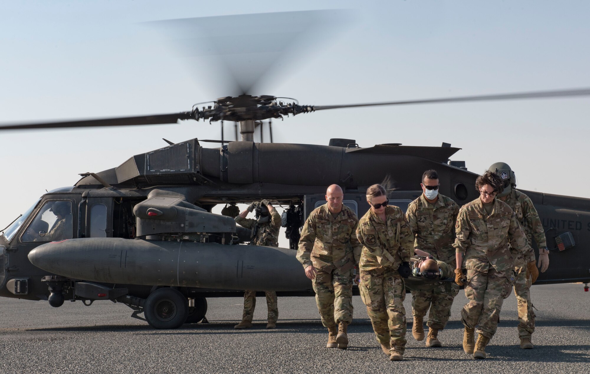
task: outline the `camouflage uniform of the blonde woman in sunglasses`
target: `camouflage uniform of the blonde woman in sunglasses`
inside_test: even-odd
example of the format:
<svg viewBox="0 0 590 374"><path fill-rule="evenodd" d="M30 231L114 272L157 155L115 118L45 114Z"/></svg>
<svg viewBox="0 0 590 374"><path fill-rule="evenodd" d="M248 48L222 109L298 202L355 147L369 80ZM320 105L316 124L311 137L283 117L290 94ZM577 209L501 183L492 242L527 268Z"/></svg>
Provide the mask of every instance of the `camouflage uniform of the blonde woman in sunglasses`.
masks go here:
<svg viewBox="0 0 590 374"><path fill-rule="evenodd" d="M386 222L372 209L359 221L356 236L363 245L360 255L360 296L367 307L377 341L391 352L405 350L406 318L404 280L398 273L410 260L414 238L397 206L385 207Z"/></svg>

